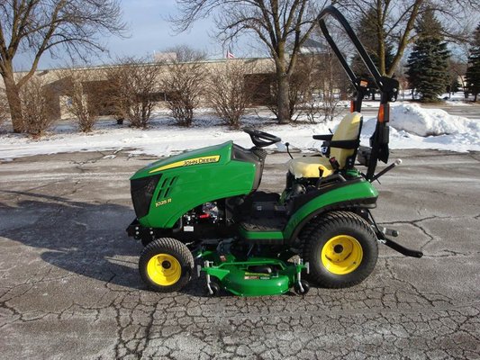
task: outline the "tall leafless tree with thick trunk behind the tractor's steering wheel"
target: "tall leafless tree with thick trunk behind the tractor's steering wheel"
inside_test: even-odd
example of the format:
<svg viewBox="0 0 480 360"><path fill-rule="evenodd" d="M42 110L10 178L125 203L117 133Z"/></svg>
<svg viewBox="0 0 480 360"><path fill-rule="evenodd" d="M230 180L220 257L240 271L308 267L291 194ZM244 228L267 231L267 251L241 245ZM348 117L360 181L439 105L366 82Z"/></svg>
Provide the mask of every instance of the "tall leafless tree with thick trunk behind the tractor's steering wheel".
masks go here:
<svg viewBox="0 0 480 360"><path fill-rule="evenodd" d="M177 4L181 15L173 20L178 31L185 31L199 18L217 14L217 36L224 42L249 33L264 44L276 65L278 121L290 121L289 87L298 54L326 1L177 0Z"/></svg>

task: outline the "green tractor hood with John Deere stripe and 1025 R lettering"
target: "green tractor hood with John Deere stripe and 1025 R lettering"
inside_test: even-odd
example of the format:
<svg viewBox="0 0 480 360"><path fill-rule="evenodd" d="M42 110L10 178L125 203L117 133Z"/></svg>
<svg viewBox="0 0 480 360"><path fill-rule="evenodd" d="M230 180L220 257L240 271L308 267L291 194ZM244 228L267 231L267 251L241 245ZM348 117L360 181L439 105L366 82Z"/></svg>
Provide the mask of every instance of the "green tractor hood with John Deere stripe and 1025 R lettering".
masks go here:
<svg viewBox="0 0 480 360"><path fill-rule="evenodd" d="M140 169L131 180L158 175L149 212L139 219L148 228L171 229L177 220L204 202L248 194L257 165L231 159L233 142L200 148L159 160Z"/></svg>

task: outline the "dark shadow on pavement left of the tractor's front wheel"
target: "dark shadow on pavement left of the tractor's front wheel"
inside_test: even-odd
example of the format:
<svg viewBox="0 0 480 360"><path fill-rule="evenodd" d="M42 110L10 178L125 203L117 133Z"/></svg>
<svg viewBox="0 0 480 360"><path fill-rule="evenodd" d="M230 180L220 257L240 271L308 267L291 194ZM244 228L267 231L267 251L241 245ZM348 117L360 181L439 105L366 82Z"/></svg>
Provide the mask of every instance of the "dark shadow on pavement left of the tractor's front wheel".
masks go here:
<svg viewBox="0 0 480 360"><path fill-rule="evenodd" d="M143 289L138 274L141 245L125 229L131 208L114 203L77 202L41 193L0 202L0 236L41 249L47 263L109 284Z"/></svg>

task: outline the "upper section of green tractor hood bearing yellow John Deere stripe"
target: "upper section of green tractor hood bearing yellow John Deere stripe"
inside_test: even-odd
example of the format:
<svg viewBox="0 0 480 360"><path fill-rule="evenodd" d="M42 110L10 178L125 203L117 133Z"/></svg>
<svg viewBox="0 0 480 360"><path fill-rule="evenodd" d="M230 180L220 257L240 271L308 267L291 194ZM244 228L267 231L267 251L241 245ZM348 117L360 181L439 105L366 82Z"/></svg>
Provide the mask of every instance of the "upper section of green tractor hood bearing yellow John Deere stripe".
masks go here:
<svg viewBox="0 0 480 360"><path fill-rule="evenodd" d="M186 166L202 166L205 164L222 165L231 159L232 141L227 141L219 145L207 148L198 148L196 150L186 151L173 157L167 157L149 164L137 171L131 180L141 177L158 175L169 169Z"/></svg>

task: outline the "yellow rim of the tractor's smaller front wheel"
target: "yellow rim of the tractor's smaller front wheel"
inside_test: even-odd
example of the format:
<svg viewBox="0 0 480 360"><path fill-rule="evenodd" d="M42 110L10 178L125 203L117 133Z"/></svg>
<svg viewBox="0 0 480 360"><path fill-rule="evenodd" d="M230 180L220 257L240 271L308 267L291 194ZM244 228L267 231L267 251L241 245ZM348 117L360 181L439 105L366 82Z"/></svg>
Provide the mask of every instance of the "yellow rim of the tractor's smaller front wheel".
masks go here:
<svg viewBox="0 0 480 360"><path fill-rule="evenodd" d="M177 283L182 275L182 266L177 258L168 254L158 254L149 259L147 274L155 284L169 286Z"/></svg>

